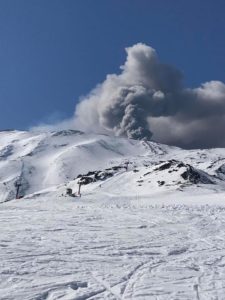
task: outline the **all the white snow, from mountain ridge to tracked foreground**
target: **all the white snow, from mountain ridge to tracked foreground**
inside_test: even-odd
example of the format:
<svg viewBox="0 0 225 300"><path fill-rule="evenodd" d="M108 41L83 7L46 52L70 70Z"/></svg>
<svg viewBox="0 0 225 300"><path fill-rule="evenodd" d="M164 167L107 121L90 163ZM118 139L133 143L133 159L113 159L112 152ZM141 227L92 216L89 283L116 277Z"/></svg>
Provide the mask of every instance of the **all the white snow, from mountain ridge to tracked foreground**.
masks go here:
<svg viewBox="0 0 225 300"><path fill-rule="evenodd" d="M1 132L0 299L224 299L224 160L225 149ZM192 168L196 182L182 177ZM113 176L67 197L89 171Z"/></svg>

